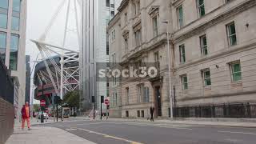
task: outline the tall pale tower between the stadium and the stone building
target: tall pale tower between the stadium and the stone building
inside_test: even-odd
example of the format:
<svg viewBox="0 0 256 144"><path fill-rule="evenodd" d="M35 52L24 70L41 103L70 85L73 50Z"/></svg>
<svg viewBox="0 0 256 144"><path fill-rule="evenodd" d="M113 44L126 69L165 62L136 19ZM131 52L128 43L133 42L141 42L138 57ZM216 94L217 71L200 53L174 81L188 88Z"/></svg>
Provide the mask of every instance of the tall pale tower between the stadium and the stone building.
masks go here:
<svg viewBox="0 0 256 144"><path fill-rule="evenodd" d="M100 96L107 97L107 82L96 82L97 62L109 62L108 34L106 27L117 13L122 0L84 0L83 1L83 46L80 50L82 66L82 105L84 110L91 109L92 96L97 108Z"/></svg>

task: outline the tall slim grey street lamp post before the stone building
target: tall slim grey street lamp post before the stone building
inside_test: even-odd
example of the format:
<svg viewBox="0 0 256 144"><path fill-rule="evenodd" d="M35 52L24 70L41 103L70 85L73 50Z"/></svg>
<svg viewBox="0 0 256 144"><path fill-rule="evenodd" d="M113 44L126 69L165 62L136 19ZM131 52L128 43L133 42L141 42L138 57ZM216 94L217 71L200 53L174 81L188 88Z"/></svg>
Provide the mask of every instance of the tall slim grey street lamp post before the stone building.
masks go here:
<svg viewBox="0 0 256 144"><path fill-rule="evenodd" d="M170 82L170 37L169 37L169 22L165 21L162 22L166 24L166 34L167 34L167 57L168 57L168 73L169 73L169 94L170 94L170 118L174 118L173 114L173 98L172 98L172 89L171 89L171 82Z"/></svg>

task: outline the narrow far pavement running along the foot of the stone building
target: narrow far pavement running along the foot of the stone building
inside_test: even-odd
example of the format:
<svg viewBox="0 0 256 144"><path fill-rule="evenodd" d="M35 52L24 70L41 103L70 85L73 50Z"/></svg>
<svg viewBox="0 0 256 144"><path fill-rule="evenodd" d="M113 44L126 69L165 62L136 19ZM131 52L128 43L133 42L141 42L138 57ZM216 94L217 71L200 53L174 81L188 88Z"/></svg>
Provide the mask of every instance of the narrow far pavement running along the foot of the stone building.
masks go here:
<svg viewBox="0 0 256 144"><path fill-rule="evenodd" d="M86 120L91 118L78 117L78 120ZM99 120L99 119L97 119ZM106 121L103 119L102 121ZM109 118L107 121L122 121L122 122L150 122L146 119L136 118ZM256 128L256 122L211 122L198 120L170 120L170 119L155 119L154 122L170 123L170 124L184 124L184 125L202 125L202 126L231 126L231 127L246 127Z"/></svg>

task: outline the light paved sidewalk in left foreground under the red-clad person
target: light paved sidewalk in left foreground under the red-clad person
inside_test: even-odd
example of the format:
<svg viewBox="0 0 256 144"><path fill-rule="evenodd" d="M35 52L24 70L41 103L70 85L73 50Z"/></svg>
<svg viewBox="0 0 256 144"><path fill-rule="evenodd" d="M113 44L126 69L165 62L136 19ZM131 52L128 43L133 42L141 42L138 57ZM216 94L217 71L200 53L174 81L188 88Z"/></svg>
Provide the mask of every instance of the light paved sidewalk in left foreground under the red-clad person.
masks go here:
<svg viewBox="0 0 256 144"><path fill-rule="evenodd" d="M49 120L46 123L54 122ZM36 119L31 120L31 125L40 124ZM31 130L22 130L17 121L14 126L14 134L10 136L6 144L95 144L65 130L54 127L31 126Z"/></svg>

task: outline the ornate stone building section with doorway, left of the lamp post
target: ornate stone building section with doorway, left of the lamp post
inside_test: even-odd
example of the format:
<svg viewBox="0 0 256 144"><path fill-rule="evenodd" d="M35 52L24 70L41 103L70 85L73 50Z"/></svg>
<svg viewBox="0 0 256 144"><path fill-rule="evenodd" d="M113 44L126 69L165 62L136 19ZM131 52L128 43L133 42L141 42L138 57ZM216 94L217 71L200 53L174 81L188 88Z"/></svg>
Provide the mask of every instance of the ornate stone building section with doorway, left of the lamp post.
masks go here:
<svg viewBox="0 0 256 144"><path fill-rule="evenodd" d="M118 14L110 21L110 62L159 62L161 76L135 82L110 82L110 116L147 118L150 106L156 116L169 116L167 93L166 21L168 1L122 1Z"/></svg>

